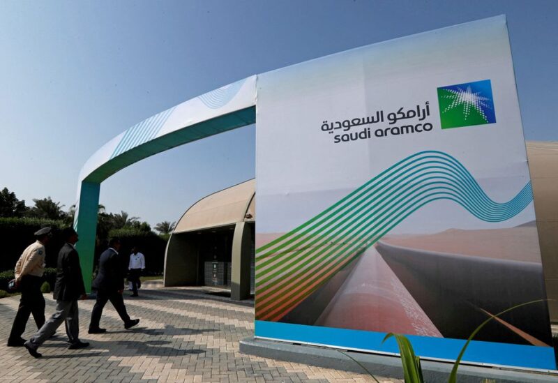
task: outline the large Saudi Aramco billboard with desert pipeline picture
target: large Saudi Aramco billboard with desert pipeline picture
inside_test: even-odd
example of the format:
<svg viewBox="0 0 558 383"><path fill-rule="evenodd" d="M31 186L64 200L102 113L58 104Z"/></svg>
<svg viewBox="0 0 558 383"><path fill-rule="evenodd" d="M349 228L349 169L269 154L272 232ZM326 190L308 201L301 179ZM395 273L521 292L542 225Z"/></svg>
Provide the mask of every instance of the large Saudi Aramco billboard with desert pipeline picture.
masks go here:
<svg viewBox="0 0 558 383"><path fill-rule="evenodd" d="M255 336L455 359L545 299L505 17L257 78ZM555 369L548 308L465 361Z"/></svg>

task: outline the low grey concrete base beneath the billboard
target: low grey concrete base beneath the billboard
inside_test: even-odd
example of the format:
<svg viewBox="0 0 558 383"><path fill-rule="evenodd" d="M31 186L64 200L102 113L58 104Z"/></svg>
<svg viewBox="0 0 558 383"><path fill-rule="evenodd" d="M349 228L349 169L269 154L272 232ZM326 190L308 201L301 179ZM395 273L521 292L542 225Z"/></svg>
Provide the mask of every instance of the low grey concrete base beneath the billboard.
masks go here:
<svg viewBox="0 0 558 383"><path fill-rule="evenodd" d="M367 372L377 376L403 379L403 369L398 356L367 354L364 352L339 352L331 348L298 345L293 343L274 342L246 338L240 342L240 351L244 354L262 356L294 363L309 364L336 370ZM350 359L350 355L354 360ZM447 382L453 363L437 361L421 361L425 382ZM458 371L459 382L475 382L495 380L496 382L557 382L558 373L538 373L525 370L508 370L480 366L462 365Z"/></svg>

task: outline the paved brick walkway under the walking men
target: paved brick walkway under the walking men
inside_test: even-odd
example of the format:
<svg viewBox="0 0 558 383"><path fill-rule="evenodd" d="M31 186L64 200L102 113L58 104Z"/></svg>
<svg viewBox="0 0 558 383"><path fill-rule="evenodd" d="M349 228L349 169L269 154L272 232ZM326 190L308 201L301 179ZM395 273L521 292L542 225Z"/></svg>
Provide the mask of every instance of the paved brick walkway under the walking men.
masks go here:
<svg viewBox="0 0 558 383"><path fill-rule="evenodd" d="M24 348L6 347L19 297L0 299L0 382L374 382L366 375L249 356L239 340L253 336L253 301L234 302L201 288L156 288L146 283L138 298L126 295L137 328L125 330L107 303L101 326L89 335L94 301L80 301L80 335L91 343L67 350L63 326L40 347L40 359ZM46 315L54 311L45 294ZM24 338L36 326L31 318ZM402 382L378 377L380 382Z"/></svg>

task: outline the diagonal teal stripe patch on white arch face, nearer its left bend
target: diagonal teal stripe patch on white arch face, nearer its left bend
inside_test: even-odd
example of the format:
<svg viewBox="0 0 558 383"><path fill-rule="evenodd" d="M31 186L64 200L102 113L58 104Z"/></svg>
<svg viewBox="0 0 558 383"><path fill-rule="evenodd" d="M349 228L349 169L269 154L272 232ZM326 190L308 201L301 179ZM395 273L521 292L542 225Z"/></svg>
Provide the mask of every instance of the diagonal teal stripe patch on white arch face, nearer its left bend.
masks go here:
<svg viewBox="0 0 558 383"><path fill-rule="evenodd" d="M154 116L149 117L135 126L132 126L126 133L124 137L120 140L119 144L116 145L116 149L112 153L110 159L121 155L122 153L140 146L148 141L153 140L157 136L159 130L163 127L169 116L172 114L176 107L171 107L164 112L160 112Z"/></svg>

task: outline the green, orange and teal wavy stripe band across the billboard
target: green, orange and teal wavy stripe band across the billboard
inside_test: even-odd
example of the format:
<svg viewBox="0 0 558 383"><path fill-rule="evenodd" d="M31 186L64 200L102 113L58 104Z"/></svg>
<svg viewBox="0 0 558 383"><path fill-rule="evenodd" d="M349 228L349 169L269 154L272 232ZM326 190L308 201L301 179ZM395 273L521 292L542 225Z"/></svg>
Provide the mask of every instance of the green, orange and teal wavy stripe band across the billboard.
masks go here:
<svg viewBox="0 0 558 383"><path fill-rule="evenodd" d="M407 216L437 200L460 204L481 220L501 222L525 209L533 193L529 182L509 202L495 202L447 153L409 156L257 248L256 319L280 320Z"/></svg>

